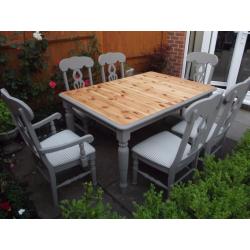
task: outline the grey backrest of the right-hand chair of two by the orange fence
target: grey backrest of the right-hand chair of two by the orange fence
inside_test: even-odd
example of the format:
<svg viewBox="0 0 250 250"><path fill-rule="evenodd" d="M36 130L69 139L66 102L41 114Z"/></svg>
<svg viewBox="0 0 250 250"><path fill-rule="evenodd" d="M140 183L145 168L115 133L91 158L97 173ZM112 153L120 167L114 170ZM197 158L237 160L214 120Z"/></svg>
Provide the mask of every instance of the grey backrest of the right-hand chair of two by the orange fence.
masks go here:
<svg viewBox="0 0 250 250"><path fill-rule="evenodd" d="M118 75L116 73L117 62L120 63L121 67L121 78L124 78L124 63L126 62L126 56L121 52L109 52L106 54L102 54L98 58L98 62L101 65L101 73L102 73L102 82L106 82L105 76L105 64L108 65L108 80L113 81L118 79Z"/></svg>

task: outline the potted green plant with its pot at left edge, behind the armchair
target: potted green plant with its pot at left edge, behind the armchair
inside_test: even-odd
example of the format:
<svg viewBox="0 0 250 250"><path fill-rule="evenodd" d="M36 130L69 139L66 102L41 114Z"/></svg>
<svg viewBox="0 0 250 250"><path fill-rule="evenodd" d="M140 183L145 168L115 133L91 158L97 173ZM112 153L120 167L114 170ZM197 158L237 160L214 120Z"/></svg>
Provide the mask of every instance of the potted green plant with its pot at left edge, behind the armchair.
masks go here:
<svg viewBox="0 0 250 250"><path fill-rule="evenodd" d="M17 128L6 104L0 100L0 142L6 142L17 136Z"/></svg>

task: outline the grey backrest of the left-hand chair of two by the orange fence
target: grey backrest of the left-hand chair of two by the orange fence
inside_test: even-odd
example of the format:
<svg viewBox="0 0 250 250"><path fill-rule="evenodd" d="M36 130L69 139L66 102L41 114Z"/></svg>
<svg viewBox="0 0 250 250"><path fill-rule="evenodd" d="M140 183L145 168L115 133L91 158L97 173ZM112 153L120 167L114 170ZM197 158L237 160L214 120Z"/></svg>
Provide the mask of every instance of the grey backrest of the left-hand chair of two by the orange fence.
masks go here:
<svg viewBox="0 0 250 250"><path fill-rule="evenodd" d="M65 84L66 90L69 90L69 79L67 76L68 70L72 70L72 78L73 78L73 88L82 88L85 86L85 82L83 80L83 67L88 69L88 77L90 84L93 84L92 71L91 68L94 66L94 61L92 58L87 56L73 56L69 58L62 59L59 63L59 68L63 72L63 80Z"/></svg>

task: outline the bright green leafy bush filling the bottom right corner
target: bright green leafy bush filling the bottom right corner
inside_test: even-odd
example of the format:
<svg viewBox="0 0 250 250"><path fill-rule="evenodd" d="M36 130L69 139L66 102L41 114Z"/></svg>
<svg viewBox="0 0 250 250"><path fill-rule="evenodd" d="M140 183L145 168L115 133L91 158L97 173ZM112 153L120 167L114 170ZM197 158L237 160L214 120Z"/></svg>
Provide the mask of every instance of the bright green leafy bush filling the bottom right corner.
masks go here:
<svg viewBox="0 0 250 250"><path fill-rule="evenodd" d="M164 200L153 186L135 218L250 218L250 131L224 160L206 157L193 181L175 185Z"/></svg>

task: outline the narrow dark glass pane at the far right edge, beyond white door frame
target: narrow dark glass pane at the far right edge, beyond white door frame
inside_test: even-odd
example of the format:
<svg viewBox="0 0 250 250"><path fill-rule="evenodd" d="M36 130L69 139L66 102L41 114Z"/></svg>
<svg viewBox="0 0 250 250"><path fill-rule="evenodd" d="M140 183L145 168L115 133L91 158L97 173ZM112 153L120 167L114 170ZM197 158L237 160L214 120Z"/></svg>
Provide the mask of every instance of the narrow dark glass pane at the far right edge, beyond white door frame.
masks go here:
<svg viewBox="0 0 250 250"><path fill-rule="evenodd" d="M250 35L247 37L244 54L240 64L237 82L242 82L250 76Z"/></svg>

